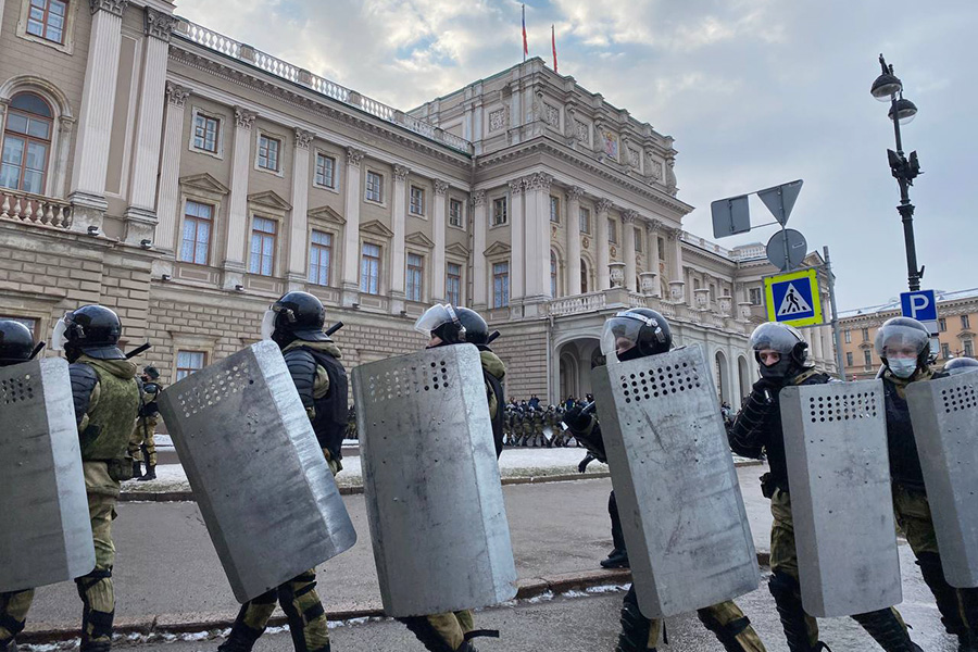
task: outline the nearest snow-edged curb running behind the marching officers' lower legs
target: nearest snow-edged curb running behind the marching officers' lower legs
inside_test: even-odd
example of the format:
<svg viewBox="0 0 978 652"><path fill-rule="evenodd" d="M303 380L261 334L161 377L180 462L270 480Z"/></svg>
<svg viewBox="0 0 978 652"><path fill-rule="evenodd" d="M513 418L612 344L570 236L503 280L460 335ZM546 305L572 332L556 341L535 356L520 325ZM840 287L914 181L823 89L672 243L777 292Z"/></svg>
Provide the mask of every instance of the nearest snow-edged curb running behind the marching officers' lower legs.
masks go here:
<svg viewBox="0 0 978 652"><path fill-rule="evenodd" d="M757 553L757 563L768 565L770 555L766 552ZM575 573L560 573L521 579L517 582L515 600L527 600L544 593L564 593L573 590L586 590L591 587L606 585L623 585L631 581L631 570L617 568L612 570L578 570ZM235 624L237 612L212 614L163 614L159 616L135 616L116 618L114 634L121 637L129 635L181 635L198 634L229 629ZM354 618L386 618L380 607L364 607L350 610L326 611L326 618L333 622L351 620ZM273 616L268 622L269 627L286 625L286 617ZM77 639L78 625L65 625L53 623L28 623L27 628L17 635L18 643L50 644Z"/></svg>

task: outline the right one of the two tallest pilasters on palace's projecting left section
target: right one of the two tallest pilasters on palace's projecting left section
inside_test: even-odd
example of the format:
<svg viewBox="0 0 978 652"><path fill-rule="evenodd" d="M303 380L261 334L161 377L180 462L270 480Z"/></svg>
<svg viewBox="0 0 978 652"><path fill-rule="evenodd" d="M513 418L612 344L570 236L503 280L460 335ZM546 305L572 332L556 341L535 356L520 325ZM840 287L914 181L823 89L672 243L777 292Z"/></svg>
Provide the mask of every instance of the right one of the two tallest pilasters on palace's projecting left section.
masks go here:
<svg viewBox="0 0 978 652"><path fill-rule="evenodd" d="M160 173L160 133L166 105L166 60L176 18L147 7L143 18L146 58L139 86L136 151L126 209L126 242L152 240L156 226L156 177Z"/></svg>

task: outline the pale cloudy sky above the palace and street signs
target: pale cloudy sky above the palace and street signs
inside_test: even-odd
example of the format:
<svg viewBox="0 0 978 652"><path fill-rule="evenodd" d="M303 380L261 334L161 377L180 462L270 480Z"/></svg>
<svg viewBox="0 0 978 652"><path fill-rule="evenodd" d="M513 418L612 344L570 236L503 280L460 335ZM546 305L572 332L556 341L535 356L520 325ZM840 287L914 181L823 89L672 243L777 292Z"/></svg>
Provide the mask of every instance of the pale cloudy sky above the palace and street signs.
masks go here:
<svg viewBox="0 0 978 652"><path fill-rule="evenodd" d="M177 0L177 13L400 109L522 60L511 0ZM978 1L532 0L530 55L676 139L685 227L710 202L802 178L789 226L831 248L840 310L906 289L888 105L869 95L883 52L920 110L903 128L925 174L923 286L978 287ZM969 190L970 189L970 190ZM754 224L770 222L760 201ZM726 238L764 241L774 227Z"/></svg>

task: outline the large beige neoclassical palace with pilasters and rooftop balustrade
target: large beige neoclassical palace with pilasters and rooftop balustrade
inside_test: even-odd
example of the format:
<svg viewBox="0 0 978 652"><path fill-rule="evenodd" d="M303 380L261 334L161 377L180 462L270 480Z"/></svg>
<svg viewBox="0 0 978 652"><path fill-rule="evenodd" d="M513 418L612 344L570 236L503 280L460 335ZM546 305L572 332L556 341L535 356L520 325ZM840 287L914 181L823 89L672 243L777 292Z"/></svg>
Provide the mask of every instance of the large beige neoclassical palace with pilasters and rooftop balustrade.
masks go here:
<svg viewBox="0 0 978 652"><path fill-rule="evenodd" d="M609 315L649 306L740 401L774 269L682 230L673 138L539 59L403 111L173 12L0 0L0 315L45 338L110 305L170 383L290 289L344 322L350 366L416 350L451 301L501 331L510 396L553 401L590 389ZM833 369L827 328L805 337Z"/></svg>

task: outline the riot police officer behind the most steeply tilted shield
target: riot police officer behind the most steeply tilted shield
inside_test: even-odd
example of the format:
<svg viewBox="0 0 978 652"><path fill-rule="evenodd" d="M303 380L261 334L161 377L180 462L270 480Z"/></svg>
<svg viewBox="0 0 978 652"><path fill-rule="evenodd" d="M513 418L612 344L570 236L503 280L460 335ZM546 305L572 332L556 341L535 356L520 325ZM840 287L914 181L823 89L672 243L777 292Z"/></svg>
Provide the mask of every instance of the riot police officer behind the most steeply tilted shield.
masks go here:
<svg viewBox="0 0 978 652"><path fill-rule="evenodd" d="M325 323L326 309L316 297L288 292L265 312L262 339L281 349L323 454L336 475L342 469L349 384L340 362L342 354L323 331ZM316 570L310 568L246 602L218 651L249 652L265 631L277 601L288 619L296 652L329 652L326 613L315 589Z"/></svg>

